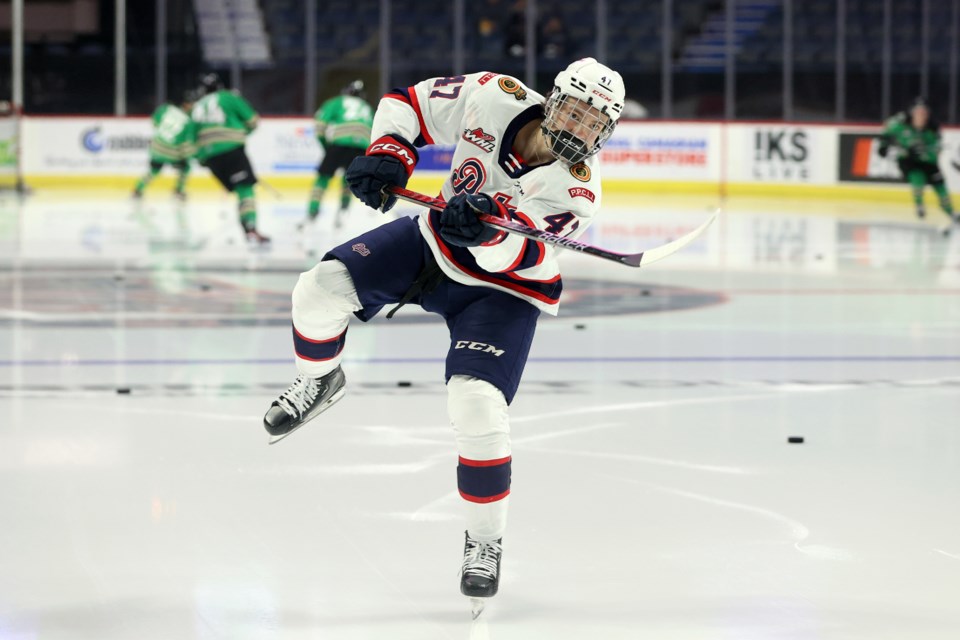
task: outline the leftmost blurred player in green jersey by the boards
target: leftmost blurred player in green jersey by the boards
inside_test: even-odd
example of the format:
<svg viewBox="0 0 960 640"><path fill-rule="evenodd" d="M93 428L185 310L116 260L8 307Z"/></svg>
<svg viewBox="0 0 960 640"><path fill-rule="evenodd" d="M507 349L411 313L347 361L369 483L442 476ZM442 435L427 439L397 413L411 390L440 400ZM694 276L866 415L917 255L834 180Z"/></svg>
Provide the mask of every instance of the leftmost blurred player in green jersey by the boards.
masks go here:
<svg viewBox="0 0 960 640"><path fill-rule="evenodd" d="M153 140L150 141L150 169L133 189L134 198L142 198L147 185L157 177L163 165L169 164L177 170L177 183L173 194L184 200L187 197L184 187L187 174L190 173L190 158L193 146L193 124L190 122L190 110L196 101L196 91L185 91L180 105L165 102L156 108L150 119L153 121Z"/></svg>

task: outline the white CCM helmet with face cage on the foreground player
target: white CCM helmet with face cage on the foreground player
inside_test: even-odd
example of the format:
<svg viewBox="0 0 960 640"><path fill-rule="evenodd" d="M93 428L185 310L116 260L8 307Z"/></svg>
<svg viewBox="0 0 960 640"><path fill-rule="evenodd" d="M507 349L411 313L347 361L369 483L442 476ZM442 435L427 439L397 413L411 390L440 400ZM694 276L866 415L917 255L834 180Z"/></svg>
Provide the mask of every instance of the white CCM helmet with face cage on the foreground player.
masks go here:
<svg viewBox="0 0 960 640"><path fill-rule="evenodd" d="M550 151L576 164L600 151L623 113L623 78L593 58L582 58L557 74L544 104L540 129Z"/></svg>

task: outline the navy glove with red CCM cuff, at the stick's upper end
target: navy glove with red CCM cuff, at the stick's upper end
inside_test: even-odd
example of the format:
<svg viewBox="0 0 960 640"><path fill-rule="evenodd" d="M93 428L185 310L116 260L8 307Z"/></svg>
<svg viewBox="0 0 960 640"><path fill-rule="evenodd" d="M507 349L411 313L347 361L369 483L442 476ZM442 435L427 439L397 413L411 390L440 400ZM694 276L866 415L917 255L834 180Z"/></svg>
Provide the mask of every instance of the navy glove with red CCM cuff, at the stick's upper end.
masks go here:
<svg viewBox="0 0 960 640"><path fill-rule="evenodd" d="M412 144L400 136L383 136L367 147L367 155L354 158L343 179L353 195L373 209L389 211L396 196L385 196L385 187L405 187L420 159Z"/></svg>

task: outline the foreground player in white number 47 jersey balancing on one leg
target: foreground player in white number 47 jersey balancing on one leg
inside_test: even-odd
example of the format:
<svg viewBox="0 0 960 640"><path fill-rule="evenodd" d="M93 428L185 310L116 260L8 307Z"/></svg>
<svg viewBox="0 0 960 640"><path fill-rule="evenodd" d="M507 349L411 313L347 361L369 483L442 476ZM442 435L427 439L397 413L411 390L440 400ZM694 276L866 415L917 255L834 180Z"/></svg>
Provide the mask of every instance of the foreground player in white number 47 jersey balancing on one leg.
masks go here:
<svg viewBox="0 0 960 640"><path fill-rule="evenodd" d="M542 311L556 314L556 250L481 224L478 212L574 238L600 207L595 154L624 103L620 75L593 58L557 75L549 96L496 73L432 78L380 101L373 143L346 180L389 211L417 164L417 147L456 145L442 212L401 217L330 250L293 291L300 375L264 416L273 442L344 394L347 324L408 302L441 315L450 333L447 408L466 509L461 592L497 593L510 494L507 408ZM393 311L387 315L390 317Z"/></svg>

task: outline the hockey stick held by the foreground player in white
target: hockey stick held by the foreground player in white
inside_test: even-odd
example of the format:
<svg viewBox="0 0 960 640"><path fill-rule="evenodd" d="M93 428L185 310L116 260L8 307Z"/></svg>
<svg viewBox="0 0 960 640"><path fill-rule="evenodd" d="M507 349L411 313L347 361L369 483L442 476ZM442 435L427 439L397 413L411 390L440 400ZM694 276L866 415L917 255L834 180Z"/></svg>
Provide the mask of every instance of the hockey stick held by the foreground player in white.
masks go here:
<svg viewBox="0 0 960 640"><path fill-rule="evenodd" d="M440 198L431 198L430 196L425 196L422 193L410 191L409 189L404 189L402 187L390 187L389 192L401 200L423 205L433 209L434 211L443 211L444 207L446 207L446 203ZM690 233L681 236L672 242L668 242L665 245L654 247L653 249L648 249L639 253L617 253L616 251L608 251L607 249L601 249L600 247L595 247L584 242L578 242L576 240L564 238L563 236L551 233L549 231L533 229L525 224L514 222L513 220L503 220L502 218L491 216L488 213L478 213L477 217L480 219L480 222L488 227L503 229L504 231L516 233L525 238L530 238L531 240L536 240L537 242L552 244L556 247L570 249L572 251L579 251L580 253L586 253L591 256L603 258L604 260L612 260L613 262L625 264L628 267L639 267L641 263L650 264L651 262L662 260L663 258L676 253L680 249L683 249L685 246L696 240L700 234L703 233L706 228L717 219L719 214L720 208L718 207L705 222L703 222L699 227Z"/></svg>

